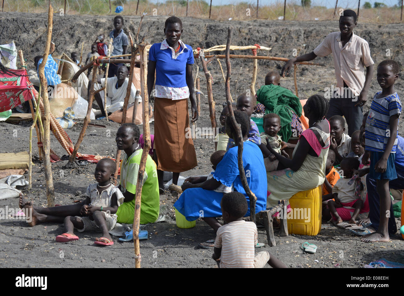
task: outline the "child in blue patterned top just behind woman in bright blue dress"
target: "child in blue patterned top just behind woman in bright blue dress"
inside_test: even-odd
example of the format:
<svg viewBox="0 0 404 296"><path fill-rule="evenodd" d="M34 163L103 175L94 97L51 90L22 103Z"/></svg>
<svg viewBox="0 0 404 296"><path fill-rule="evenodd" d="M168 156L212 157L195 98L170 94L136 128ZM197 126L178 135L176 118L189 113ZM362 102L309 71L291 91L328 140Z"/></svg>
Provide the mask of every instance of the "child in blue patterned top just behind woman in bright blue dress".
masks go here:
<svg viewBox="0 0 404 296"><path fill-rule="evenodd" d="M237 98L236 108L239 111L244 111L248 115L248 118L250 119L250 130L248 131L248 140L259 146L261 144L261 138L259 136L257 123L255 123L251 119L251 115L255 110L256 104L257 104L257 99L255 97L252 98L252 97L246 96L245 94L242 94ZM229 150L230 148L232 148L234 146L235 146L234 140L229 138L229 141L227 142L226 150Z"/></svg>

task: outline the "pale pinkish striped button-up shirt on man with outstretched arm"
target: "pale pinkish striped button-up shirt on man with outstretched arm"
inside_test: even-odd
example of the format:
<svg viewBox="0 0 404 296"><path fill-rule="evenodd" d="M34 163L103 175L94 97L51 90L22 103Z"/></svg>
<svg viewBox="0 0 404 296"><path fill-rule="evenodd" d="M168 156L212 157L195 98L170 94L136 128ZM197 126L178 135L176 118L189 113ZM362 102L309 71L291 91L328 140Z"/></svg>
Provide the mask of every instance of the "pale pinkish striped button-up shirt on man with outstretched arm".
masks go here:
<svg viewBox="0 0 404 296"><path fill-rule="evenodd" d="M352 33L351 39L342 46L341 32L333 32L314 50L317 56L332 53L337 78L337 88L343 90L344 81L355 96L359 96L365 84L364 68L373 65L369 44L363 38ZM341 94L344 92L342 91Z"/></svg>

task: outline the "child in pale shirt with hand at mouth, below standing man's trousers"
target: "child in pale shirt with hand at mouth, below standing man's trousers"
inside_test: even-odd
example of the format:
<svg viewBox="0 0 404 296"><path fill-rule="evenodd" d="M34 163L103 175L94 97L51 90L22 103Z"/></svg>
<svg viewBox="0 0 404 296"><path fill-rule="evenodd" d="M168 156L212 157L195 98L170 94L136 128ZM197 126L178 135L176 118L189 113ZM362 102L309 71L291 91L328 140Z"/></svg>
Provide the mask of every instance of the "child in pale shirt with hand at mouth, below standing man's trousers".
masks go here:
<svg viewBox="0 0 404 296"><path fill-rule="evenodd" d="M341 99L342 100L342 99ZM345 134L345 119L340 115L334 115L330 122L330 150L335 152L335 165L352 152L351 137Z"/></svg>

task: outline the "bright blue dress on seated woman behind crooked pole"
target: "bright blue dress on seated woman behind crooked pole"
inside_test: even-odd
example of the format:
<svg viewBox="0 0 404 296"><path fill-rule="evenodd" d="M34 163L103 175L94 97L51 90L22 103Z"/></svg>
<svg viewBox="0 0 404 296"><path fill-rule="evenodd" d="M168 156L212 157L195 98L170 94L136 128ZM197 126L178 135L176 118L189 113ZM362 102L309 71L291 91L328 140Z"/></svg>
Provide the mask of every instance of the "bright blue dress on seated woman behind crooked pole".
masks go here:
<svg viewBox="0 0 404 296"><path fill-rule="evenodd" d="M250 198L241 183L237 164L238 147L230 148L217 165L213 177L225 186L234 185L234 191L246 196L248 211L244 217L250 216ZM264 166L264 158L261 150L250 141L244 142L243 166L246 173L248 186L257 197L255 212L263 211L267 207L267 173ZM220 202L223 193L202 188L188 188L181 194L174 207L188 221L198 218L221 217Z"/></svg>

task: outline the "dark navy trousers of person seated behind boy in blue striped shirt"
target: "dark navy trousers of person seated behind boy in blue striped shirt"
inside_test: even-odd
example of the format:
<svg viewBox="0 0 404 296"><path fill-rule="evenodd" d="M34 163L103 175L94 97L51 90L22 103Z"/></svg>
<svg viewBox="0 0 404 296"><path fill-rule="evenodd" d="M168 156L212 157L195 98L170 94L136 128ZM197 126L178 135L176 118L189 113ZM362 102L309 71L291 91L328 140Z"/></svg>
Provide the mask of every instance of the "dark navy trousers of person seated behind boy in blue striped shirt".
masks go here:
<svg viewBox="0 0 404 296"><path fill-rule="evenodd" d="M379 228L380 222L380 196L376 189L377 180L366 176L366 186L368 189L368 201L369 201L369 219L372 222L372 227L376 230ZM404 189L404 179L397 178L389 181L389 188L391 189ZM390 204L390 218L388 223L389 233L397 232L396 219L393 214L393 204Z"/></svg>

